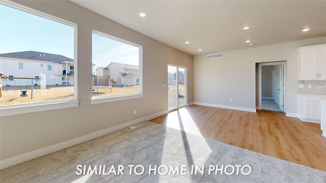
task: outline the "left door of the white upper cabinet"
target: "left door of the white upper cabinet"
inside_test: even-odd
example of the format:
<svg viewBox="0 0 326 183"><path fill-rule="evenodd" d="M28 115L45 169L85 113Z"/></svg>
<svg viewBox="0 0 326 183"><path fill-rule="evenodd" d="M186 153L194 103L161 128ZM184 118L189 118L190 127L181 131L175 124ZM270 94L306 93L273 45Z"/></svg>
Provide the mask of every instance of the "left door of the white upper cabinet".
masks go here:
<svg viewBox="0 0 326 183"><path fill-rule="evenodd" d="M302 48L300 52L301 80L317 80L318 73L318 47Z"/></svg>

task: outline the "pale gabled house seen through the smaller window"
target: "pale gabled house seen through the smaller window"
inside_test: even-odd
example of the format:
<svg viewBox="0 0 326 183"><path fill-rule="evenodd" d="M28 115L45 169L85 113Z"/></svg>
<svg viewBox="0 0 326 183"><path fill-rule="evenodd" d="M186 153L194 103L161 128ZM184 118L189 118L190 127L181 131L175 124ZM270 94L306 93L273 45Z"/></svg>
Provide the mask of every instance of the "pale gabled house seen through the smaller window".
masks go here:
<svg viewBox="0 0 326 183"><path fill-rule="evenodd" d="M139 66L111 63L107 67L98 67L97 76L111 76L117 85L137 85L139 84Z"/></svg>

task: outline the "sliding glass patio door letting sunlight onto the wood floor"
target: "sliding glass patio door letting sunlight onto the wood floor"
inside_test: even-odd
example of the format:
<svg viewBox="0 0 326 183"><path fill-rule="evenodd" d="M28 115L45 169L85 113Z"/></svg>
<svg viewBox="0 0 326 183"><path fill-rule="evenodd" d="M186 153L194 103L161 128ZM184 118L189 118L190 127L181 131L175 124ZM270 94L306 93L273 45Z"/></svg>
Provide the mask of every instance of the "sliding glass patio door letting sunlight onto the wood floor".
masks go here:
<svg viewBox="0 0 326 183"><path fill-rule="evenodd" d="M168 110L186 104L186 68L168 65Z"/></svg>

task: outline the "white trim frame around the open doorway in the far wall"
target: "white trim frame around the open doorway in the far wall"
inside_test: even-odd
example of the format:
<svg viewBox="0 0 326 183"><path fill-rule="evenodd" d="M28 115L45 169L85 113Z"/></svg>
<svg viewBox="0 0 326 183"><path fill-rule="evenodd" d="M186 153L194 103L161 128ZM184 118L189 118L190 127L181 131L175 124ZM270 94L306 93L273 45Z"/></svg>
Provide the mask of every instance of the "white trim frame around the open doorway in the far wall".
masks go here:
<svg viewBox="0 0 326 183"><path fill-rule="evenodd" d="M258 78L259 78L259 91L258 91L258 100L259 100L259 105L257 106L258 110L261 110L261 67L262 66L274 66L274 65L283 65L284 71L283 71L283 112L286 112L287 109L287 67L286 67L286 61L280 61L280 62L266 62L266 63L258 63Z"/></svg>

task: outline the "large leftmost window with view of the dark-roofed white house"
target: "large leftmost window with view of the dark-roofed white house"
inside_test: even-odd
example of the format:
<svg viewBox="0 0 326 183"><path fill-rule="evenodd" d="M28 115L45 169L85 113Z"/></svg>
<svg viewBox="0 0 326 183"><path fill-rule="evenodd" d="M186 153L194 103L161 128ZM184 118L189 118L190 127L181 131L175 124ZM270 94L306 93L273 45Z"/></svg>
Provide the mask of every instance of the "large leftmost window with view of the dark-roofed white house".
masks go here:
<svg viewBox="0 0 326 183"><path fill-rule="evenodd" d="M69 85L64 85L61 81L63 66L62 61L60 62L60 60L68 61L72 63L71 65L77 62L75 59L77 25L22 5L16 5L10 1L0 2L1 56L10 58L1 59L0 65L1 72L13 73L6 81L8 85L27 88L28 97L17 98L17 92L20 93L18 87L3 93L0 116L78 106L74 85L76 73L71 76L72 81ZM19 73L17 65L11 64L13 59L16 60L15 63L18 63ZM24 65L31 69L23 68ZM33 84L40 86L41 89L33 92L29 88ZM40 103L42 105L39 105ZM17 105L20 106L19 110Z"/></svg>

